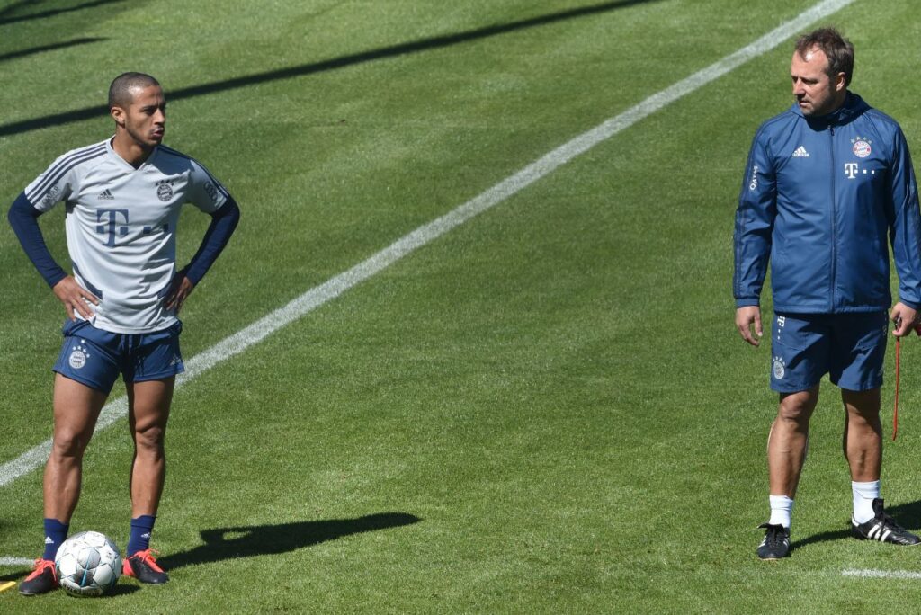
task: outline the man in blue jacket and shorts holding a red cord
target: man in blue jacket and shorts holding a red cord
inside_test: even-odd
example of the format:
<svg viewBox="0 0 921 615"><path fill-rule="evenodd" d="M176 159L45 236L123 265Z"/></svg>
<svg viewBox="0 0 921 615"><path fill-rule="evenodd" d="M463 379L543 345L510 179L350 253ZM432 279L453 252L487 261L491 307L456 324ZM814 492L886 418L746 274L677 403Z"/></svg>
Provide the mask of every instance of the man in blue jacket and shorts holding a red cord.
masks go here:
<svg viewBox="0 0 921 615"><path fill-rule="evenodd" d="M900 282L888 319L902 337L921 308L915 172L898 123L848 90L853 67L854 47L834 29L797 41L795 102L755 133L736 212L736 327L754 346L763 333L759 296L768 261L774 294L771 388L780 402L768 435L763 560L790 551L810 415L825 374L844 402L853 535L921 542L886 515L880 498L880 386L892 305L887 240Z"/></svg>

